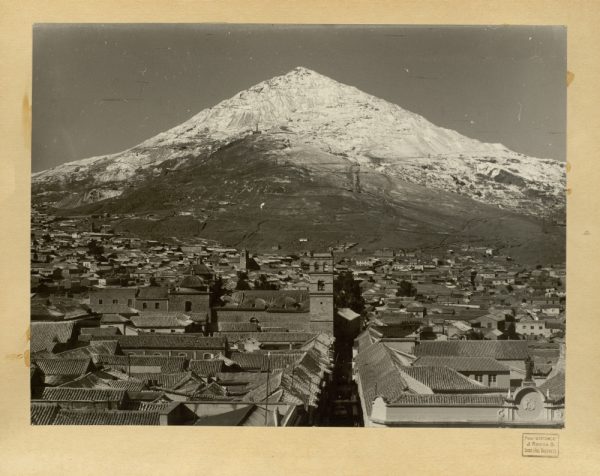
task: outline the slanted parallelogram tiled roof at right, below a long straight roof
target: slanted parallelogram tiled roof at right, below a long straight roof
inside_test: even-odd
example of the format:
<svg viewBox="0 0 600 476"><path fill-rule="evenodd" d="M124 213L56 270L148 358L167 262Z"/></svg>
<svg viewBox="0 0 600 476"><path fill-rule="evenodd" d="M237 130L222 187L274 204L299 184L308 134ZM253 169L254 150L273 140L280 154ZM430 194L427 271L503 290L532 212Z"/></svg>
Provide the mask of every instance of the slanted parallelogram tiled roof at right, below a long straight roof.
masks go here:
<svg viewBox="0 0 600 476"><path fill-rule="evenodd" d="M399 370L403 375L409 375L427 385L434 393L492 391L448 367L399 367Z"/></svg>

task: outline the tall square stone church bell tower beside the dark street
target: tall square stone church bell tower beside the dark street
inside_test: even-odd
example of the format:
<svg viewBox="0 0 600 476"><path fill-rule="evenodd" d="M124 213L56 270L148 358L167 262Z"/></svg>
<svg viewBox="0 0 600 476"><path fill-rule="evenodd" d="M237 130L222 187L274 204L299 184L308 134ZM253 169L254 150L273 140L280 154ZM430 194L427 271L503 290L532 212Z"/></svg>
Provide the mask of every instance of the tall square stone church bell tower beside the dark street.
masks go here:
<svg viewBox="0 0 600 476"><path fill-rule="evenodd" d="M333 335L333 253L309 257L310 328Z"/></svg>

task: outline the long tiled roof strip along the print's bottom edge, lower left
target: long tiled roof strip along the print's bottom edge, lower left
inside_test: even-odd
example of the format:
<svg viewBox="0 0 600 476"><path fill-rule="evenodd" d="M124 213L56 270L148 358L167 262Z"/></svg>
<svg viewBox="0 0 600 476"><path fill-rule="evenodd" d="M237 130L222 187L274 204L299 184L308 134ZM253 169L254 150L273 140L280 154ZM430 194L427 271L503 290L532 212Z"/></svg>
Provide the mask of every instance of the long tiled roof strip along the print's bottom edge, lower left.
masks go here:
<svg viewBox="0 0 600 476"><path fill-rule="evenodd" d="M61 410L54 425L160 425L160 413L132 410Z"/></svg>

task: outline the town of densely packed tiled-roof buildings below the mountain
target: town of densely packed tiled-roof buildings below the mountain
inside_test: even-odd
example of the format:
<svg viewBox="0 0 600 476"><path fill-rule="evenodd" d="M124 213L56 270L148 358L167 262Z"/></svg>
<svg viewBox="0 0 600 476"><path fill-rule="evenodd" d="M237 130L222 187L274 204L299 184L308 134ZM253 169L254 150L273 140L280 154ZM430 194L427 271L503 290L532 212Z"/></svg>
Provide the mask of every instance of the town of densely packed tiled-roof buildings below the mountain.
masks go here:
<svg viewBox="0 0 600 476"><path fill-rule="evenodd" d="M32 213L33 424L563 424L564 264L90 228Z"/></svg>

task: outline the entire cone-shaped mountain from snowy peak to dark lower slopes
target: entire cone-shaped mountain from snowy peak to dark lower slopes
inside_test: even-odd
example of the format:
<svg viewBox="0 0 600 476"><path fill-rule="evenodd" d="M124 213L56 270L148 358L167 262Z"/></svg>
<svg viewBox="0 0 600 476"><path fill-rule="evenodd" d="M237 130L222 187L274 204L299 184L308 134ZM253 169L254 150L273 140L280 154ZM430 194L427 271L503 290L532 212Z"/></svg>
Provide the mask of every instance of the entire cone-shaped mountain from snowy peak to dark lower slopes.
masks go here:
<svg viewBox="0 0 600 476"><path fill-rule="evenodd" d="M417 236L438 243L444 233L509 243L512 233L521 246L528 230L559 254L561 239L538 236L547 226L536 216L564 221L564 189L559 162L437 127L306 68L241 91L126 151L32 176L34 201L73 211L191 211L191 229L231 243L262 243L277 230L295 237L305 227L335 242L356 234L350 225L360 222L359 234L379 230L366 240L373 244L389 233L415 243ZM261 217L267 210L277 216L270 224ZM358 219L359 210L372 217ZM510 233L496 233L494 219Z"/></svg>

